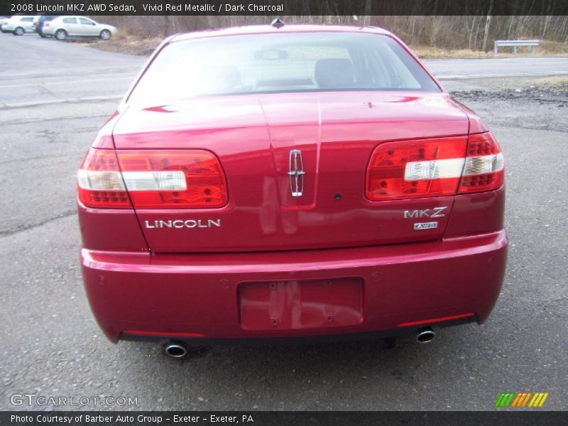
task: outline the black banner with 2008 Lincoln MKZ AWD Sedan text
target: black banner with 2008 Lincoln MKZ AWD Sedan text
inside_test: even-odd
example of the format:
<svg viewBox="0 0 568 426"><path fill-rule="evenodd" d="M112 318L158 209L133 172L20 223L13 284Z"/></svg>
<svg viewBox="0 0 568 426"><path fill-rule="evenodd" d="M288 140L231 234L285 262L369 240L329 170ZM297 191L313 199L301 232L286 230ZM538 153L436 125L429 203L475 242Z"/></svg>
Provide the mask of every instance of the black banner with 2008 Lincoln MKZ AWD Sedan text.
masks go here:
<svg viewBox="0 0 568 426"><path fill-rule="evenodd" d="M0 0L0 15L568 15L568 0Z"/></svg>

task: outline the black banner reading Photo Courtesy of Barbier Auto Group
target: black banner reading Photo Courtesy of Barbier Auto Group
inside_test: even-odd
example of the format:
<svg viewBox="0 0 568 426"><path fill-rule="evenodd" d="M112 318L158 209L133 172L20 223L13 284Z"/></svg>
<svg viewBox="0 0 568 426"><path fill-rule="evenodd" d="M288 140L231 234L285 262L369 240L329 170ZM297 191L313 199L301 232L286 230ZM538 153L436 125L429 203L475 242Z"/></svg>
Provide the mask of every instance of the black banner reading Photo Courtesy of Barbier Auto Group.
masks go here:
<svg viewBox="0 0 568 426"><path fill-rule="evenodd" d="M554 411L479 411L479 412L3 412L3 426L522 426L566 425L568 413Z"/></svg>

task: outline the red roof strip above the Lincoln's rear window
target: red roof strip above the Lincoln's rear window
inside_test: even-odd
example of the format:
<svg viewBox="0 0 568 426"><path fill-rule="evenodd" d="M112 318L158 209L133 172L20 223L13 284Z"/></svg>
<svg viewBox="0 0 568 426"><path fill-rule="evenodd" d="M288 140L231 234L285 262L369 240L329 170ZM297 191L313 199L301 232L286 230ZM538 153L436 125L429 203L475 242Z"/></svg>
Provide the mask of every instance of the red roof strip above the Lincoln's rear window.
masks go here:
<svg viewBox="0 0 568 426"><path fill-rule="evenodd" d="M378 27L362 26L339 26L339 25L285 25L276 28L271 25L239 26L231 28L221 28L207 31L195 31L174 35L170 43L180 40L191 40L193 38L221 37L225 35L245 35L245 34L266 34L266 33L312 33L317 31L328 31L335 33L373 33L392 35L390 31Z"/></svg>

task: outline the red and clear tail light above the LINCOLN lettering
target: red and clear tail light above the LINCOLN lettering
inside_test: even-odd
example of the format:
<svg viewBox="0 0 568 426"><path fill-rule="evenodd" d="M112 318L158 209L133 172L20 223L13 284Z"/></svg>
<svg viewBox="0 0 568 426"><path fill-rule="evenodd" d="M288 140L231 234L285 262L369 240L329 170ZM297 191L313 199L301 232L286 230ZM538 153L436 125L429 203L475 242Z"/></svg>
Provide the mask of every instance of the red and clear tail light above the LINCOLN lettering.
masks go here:
<svg viewBox="0 0 568 426"><path fill-rule="evenodd" d="M223 170L208 151L91 148L77 179L87 207L208 208L227 202Z"/></svg>

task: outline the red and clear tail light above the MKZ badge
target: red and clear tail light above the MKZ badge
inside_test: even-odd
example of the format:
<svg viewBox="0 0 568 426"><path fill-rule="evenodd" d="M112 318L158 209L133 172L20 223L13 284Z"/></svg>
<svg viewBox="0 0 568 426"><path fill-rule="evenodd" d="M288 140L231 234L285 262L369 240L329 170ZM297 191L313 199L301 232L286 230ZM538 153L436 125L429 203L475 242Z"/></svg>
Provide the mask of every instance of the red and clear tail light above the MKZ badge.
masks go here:
<svg viewBox="0 0 568 426"><path fill-rule="evenodd" d="M495 190L503 154L491 133L381 143L367 168L369 200L403 200Z"/></svg>

